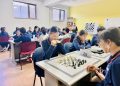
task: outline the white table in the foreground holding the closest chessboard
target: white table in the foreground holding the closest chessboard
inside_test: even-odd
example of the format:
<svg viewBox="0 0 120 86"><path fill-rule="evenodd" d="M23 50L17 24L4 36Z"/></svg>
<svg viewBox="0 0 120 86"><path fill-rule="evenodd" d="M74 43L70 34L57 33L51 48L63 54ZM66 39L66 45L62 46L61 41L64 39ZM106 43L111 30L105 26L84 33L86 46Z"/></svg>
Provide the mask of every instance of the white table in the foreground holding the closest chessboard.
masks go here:
<svg viewBox="0 0 120 86"><path fill-rule="evenodd" d="M87 57L82 56L80 51L71 52L67 55L72 55L72 54L79 56L80 58L81 57L87 58ZM108 60L109 56L110 56L110 54L103 54L102 57L98 56L98 55L96 57L95 55L92 54L92 57L91 58L88 57L87 59L99 60L98 62L96 62L94 64L96 67L99 67ZM40 62L36 63L39 67L41 67L45 71L45 86L59 86L59 83L58 83L59 81L62 82L65 86L73 86L77 81L79 81L80 79L82 79L83 77L85 77L89 74L86 71L87 65L82 66L81 69L83 69L83 70L79 71L75 75L74 75L74 73L71 73L73 75L69 75L69 74L65 73L66 69L68 69L68 71L70 71L70 72L73 72L73 71L72 71L72 69L67 68L67 67L66 67L66 69L62 68L63 66L58 68L58 64L56 64L56 66L55 66L55 63L52 64L53 60L57 60L61 57L64 58L64 56L58 56L58 57L55 57L50 60L44 60L44 61L40 61ZM91 65L91 62L88 61L88 65Z"/></svg>

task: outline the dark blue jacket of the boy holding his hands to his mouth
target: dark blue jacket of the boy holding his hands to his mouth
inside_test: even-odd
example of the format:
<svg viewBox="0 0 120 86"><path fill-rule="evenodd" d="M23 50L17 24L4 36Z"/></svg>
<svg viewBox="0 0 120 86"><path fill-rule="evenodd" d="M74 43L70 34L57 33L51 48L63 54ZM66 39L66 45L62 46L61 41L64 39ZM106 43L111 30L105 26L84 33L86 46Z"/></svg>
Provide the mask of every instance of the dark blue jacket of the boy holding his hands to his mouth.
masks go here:
<svg viewBox="0 0 120 86"><path fill-rule="evenodd" d="M45 59L50 59L52 57L58 56L59 53L61 54L66 53L62 44L57 44L57 46L52 46L49 38L42 42L42 47L45 53L44 55Z"/></svg>

